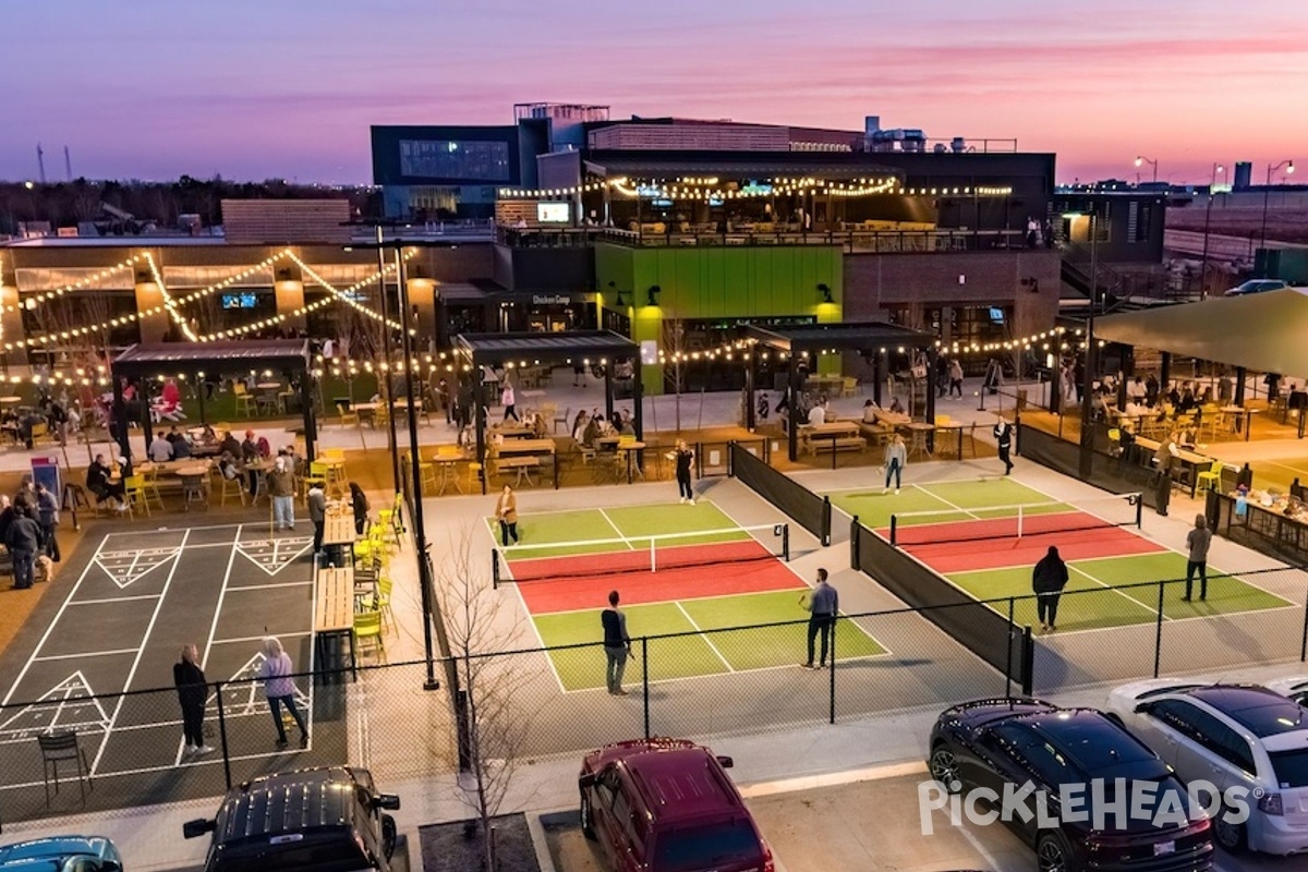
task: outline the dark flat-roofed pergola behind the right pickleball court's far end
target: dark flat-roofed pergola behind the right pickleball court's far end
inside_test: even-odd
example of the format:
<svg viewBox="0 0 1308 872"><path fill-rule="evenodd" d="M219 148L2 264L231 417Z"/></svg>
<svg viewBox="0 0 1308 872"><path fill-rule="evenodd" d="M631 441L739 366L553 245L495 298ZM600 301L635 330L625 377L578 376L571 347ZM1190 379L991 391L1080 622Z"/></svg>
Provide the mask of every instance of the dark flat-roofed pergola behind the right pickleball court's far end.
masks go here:
<svg viewBox="0 0 1308 872"><path fill-rule="evenodd" d="M875 371L872 391L878 403L880 403L882 375L884 374L883 357L887 352L925 349L927 354L927 369L930 373L935 371L935 336L886 322L808 324L803 327L757 327L751 324L744 328L743 337L747 341L752 341L781 354L790 356L791 365L790 378L786 382L786 408L791 409L791 421L794 421L793 409L795 408L799 392L803 388L800 367L795 365L795 361L803 360L804 357L816 361L818 354L821 354L823 352L875 352L872 357L872 367ZM746 397L746 425L751 430L755 428L753 392L755 383L757 380L756 361L757 356L749 354L748 365L746 367L746 391L748 392L748 396ZM935 420L934 390L929 390L926 392L926 420ZM790 426L787 430L787 456L791 460L798 460L798 428ZM934 434L929 434L927 438L931 438L933 435ZM930 447L934 448L934 446Z"/></svg>

